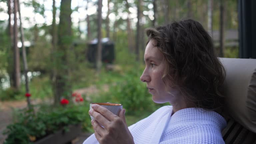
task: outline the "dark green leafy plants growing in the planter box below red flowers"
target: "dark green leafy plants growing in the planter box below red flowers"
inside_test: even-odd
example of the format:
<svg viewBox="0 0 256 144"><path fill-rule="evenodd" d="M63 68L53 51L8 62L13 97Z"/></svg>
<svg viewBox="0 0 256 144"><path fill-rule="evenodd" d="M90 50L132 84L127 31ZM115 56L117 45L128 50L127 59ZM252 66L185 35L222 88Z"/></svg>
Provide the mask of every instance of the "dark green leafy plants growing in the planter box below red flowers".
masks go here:
<svg viewBox="0 0 256 144"><path fill-rule="evenodd" d="M16 122L7 126L4 134L7 134L8 137L4 144L32 143L29 137L36 137L38 140L60 129L68 130L69 125L81 123L84 130L91 131L88 111L89 104L64 107L43 105L36 111L23 109L18 113Z"/></svg>

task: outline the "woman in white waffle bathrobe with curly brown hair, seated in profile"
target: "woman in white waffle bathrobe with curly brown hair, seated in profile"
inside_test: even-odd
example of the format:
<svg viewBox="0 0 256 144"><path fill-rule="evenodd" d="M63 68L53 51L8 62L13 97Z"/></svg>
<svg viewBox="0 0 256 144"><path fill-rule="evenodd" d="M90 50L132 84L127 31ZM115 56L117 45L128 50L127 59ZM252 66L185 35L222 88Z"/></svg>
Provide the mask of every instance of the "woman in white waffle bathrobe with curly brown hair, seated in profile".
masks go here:
<svg viewBox="0 0 256 144"><path fill-rule="evenodd" d="M219 88L225 71L209 34L194 20L146 33L146 67L140 79L154 102L172 106L127 127L125 109L115 116L94 105L89 114L95 118L95 133L84 144L224 144L221 131L226 121L217 112L223 105Z"/></svg>

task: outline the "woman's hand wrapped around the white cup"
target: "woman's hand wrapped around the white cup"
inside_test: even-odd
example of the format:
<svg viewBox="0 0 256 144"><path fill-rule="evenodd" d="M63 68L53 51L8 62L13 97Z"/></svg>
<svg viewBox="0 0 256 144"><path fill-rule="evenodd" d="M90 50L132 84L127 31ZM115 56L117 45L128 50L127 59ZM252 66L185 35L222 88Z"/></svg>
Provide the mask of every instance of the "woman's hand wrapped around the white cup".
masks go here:
<svg viewBox="0 0 256 144"><path fill-rule="evenodd" d="M100 144L134 144L126 124L125 109L122 109L117 116L97 104L92 105L92 108L89 114L94 117L92 121L94 134Z"/></svg>

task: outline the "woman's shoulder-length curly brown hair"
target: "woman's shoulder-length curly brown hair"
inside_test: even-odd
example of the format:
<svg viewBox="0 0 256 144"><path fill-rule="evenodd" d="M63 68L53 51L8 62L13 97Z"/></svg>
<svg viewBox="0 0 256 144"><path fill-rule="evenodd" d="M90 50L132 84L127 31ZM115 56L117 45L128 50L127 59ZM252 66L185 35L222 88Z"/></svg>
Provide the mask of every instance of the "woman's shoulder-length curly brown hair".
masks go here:
<svg viewBox="0 0 256 144"><path fill-rule="evenodd" d="M203 26L194 20L173 22L146 30L148 42L154 40L164 55L167 67L163 80L171 79L195 107L217 111L223 105L220 87L225 69L213 41Z"/></svg>

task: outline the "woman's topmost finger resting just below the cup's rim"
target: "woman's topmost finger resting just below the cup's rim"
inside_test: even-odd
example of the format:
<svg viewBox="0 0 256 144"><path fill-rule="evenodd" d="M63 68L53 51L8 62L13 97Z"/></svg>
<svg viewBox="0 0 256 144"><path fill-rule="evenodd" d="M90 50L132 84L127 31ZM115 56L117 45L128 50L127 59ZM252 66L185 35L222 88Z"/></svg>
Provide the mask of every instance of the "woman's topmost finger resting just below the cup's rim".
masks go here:
<svg viewBox="0 0 256 144"><path fill-rule="evenodd" d="M98 113L100 113L101 115L103 115L105 118L107 118L108 120L112 121L114 120L114 118L116 117L115 114L113 114L112 112L110 112L108 109L98 105L98 104L93 104L92 108L97 111ZM95 117L94 117L95 118ZM98 120L97 120L98 121ZM98 121L101 123L101 121ZM103 125L104 126L104 125Z"/></svg>

